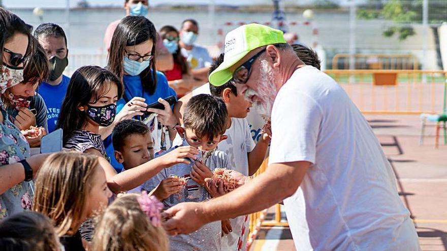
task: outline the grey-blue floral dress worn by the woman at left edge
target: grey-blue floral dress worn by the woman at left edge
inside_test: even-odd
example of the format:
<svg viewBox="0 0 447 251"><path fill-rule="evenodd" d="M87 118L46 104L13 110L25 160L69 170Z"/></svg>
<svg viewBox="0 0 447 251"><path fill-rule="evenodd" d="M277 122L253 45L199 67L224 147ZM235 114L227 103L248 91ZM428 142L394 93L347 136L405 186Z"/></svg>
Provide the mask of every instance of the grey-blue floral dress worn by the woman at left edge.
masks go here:
<svg viewBox="0 0 447 251"><path fill-rule="evenodd" d="M0 123L0 168L29 158L29 145L20 130L8 119L0 107L3 123ZM21 168L21 167L19 167ZM2 182L2 181L0 181ZM33 182L21 182L0 194L0 220L12 214L31 209L33 201Z"/></svg>

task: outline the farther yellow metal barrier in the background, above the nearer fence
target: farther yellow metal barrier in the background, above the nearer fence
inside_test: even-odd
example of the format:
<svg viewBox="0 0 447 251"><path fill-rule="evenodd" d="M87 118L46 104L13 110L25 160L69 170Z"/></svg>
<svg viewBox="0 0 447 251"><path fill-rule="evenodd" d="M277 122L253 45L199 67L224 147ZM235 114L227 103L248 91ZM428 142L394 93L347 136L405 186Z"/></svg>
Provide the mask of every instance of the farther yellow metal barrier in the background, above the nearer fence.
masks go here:
<svg viewBox="0 0 447 251"><path fill-rule="evenodd" d="M336 54L332 69L349 69L350 54ZM418 59L411 54L354 54L355 69L418 69ZM341 66L341 67L340 67Z"/></svg>

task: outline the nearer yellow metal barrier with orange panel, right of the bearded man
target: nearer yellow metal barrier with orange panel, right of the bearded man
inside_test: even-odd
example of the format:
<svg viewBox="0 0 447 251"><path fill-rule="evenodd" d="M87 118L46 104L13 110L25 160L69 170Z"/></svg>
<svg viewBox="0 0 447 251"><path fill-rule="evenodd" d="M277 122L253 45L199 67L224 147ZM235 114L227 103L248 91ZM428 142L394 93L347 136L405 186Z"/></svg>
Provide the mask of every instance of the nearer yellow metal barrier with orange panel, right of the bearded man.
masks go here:
<svg viewBox="0 0 447 251"><path fill-rule="evenodd" d="M421 114L442 110L447 71L355 69L326 70L325 73L345 89L364 114Z"/></svg>

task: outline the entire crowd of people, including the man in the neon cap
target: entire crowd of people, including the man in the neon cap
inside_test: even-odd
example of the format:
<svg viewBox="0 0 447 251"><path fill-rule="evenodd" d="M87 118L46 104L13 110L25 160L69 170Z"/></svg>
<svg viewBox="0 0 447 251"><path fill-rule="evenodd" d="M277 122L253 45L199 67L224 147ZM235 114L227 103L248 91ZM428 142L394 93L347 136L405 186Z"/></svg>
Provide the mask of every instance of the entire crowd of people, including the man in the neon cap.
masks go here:
<svg viewBox="0 0 447 251"><path fill-rule="evenodd" d="M247 215L282 200L298 249L418 249L380 145L313 50L249 24L213 60L196 20L157 31L147 0L124 9L107 65L68 77L64 30L0 8L3 249L245 250ZM63 151L31 154L56 129Z"/></svg>

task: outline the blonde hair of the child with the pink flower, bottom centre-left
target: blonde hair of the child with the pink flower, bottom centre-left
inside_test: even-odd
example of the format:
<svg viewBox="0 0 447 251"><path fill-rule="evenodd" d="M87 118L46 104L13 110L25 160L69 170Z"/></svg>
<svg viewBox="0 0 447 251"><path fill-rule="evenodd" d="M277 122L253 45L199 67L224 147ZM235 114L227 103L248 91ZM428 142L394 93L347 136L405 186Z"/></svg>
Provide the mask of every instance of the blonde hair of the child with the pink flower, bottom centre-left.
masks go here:
<svg viewBox="0 0 447 251"><path fill-rule="evenodd" d="M154 227L138 203L139 194L119 196L97 221L94 251L167 251L169 241L163 227Z"/></svg>

